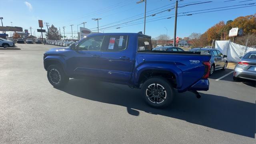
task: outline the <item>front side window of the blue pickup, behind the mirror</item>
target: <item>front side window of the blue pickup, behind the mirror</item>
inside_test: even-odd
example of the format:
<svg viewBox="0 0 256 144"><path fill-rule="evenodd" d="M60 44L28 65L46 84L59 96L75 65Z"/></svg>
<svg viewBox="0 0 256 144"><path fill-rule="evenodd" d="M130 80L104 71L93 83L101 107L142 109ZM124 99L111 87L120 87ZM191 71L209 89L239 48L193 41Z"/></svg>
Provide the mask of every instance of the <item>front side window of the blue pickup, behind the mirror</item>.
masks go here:
<svg viewBox="0 0 256 144"><path fill-rule="evenodd" d="M92 36L85 38L77 47L78 50L100 51L104 36Z"/></svg>

